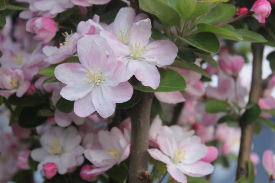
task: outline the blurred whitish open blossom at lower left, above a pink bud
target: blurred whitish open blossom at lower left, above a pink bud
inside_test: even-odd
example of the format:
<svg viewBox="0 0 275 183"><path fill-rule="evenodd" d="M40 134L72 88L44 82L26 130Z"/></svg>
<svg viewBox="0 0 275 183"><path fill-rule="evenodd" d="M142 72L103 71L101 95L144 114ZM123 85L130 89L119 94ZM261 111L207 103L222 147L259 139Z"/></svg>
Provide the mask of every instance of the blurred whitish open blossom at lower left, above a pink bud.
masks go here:
<svg viewBox="0 0 275 183"><path fill-rule="evenodd" d="M84 148L79 145L81 137L77 130L68 128L50 127L41 135L42 147L31 151L33 160L40 162L37 169L44 170L43 165L54 163L60 174L65 174L68 169L81 165L84 162L82 156Z"/></svg>

